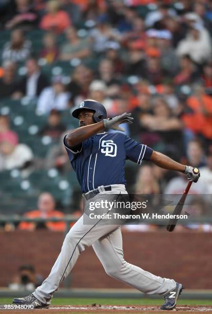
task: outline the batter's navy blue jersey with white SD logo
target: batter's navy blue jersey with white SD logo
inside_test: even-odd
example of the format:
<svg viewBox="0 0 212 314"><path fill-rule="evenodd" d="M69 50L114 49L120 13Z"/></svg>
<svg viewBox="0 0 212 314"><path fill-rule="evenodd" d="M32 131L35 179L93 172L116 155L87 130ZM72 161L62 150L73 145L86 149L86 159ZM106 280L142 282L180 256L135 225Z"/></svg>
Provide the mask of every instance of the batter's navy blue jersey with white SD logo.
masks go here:
<svg viewBox="0 0 212 314"><path fill-rule="evenodd" d="M72 149L64 138L64 145L83 193L101 185L126 184L126 159L140 165L152 154L151 148L121 132L95 134Z"/></svg>

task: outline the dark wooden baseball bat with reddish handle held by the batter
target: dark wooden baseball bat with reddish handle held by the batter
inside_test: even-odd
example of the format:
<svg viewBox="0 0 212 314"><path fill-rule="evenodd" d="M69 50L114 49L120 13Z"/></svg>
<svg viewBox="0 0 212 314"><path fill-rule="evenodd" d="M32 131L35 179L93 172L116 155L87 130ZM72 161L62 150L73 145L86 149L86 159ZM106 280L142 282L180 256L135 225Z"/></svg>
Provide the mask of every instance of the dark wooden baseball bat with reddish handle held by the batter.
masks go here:
<svg viewBox="0 0 212 314"><path fill-rule="evenodd" d="M199 169L194 168L193 172L195 174L197 174L199 172ZM186 186L186 188L185 188L185 191L183 192L183 195L182 195L180 201L178 202L178 204L176 205L176 207L175 207L175 209L173 211L173 215L180 215L181 214L182 209L183 209L183 205L185 203L185 200L186 200L188 191L189 191L189 189L191 187L191 184L192 184L192 181L189 181L187 186ZM169 219L168 225L166 226L167 231L172 232L175 229L175 226L177 225L177 222L178 222L178 218L171 218L171 219Z"/></svg>

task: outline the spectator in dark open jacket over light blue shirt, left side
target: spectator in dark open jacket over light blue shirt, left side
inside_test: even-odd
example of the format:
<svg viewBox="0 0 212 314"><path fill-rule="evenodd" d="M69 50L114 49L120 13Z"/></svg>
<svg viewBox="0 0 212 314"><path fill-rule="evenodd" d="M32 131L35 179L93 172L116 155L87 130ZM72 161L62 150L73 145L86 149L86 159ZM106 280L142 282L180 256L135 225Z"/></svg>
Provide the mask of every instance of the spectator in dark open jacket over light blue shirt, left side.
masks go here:
<svg viewBox="0 0 212 314"><path fill-rule="evenodd" d="M23 96L30 98L40 96L42 90L49 86L48 80L34 58L26 62L27 75L17 84L14 98L19 99Z"/></svg>

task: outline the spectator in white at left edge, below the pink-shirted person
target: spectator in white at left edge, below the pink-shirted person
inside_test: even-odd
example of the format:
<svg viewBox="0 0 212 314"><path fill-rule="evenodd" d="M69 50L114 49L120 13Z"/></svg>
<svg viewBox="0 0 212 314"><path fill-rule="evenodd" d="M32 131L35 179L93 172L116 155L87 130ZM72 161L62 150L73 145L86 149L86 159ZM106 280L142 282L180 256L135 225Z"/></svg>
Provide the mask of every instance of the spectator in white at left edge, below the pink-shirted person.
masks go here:
<svg viewBox="0 0 212 314"><path fill-rule="evenodd" d="M32 150L26 144L17 144L14 136L0 142L0 171L26 169L33 161Z"/></svg>

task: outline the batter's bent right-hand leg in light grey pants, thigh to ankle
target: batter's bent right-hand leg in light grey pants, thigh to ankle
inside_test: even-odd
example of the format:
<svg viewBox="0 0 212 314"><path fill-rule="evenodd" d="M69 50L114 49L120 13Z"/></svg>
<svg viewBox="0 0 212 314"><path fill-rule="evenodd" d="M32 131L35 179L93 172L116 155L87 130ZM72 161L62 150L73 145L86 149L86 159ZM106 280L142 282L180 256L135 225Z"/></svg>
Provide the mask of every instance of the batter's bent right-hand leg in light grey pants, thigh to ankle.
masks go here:
<svg viewBox="0 0 212 314"><path fill-rule="evenodd" d="M155 276L124 260L121 227L102 237L92 246L109 276L149 294L165 296L167 292L176 288L174 280Z"/></svg>

